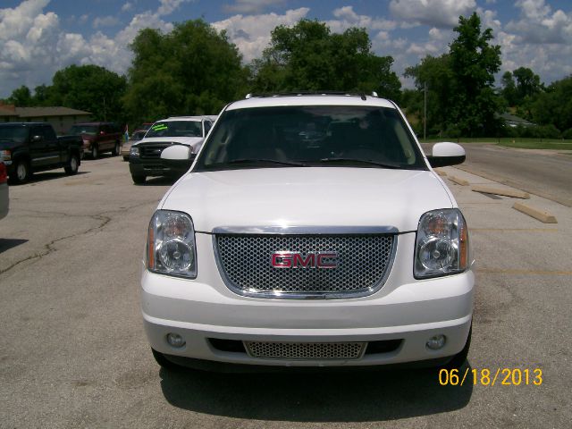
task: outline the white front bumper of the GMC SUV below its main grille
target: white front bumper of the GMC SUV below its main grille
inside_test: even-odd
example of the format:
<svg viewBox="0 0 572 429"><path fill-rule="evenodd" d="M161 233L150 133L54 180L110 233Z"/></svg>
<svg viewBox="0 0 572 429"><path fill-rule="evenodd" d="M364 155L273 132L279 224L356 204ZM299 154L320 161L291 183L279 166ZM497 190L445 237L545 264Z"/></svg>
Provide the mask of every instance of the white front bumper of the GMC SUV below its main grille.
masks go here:
<svg viewBox="0 0 572 429"><path fill-rule="evenodd" d="M374 295L360 299L253 299L144 269L141 299L149 343L166 355L256 366L378 366L450 357L463 349L471 325L474 282L474 274L468 271L393 288L386 284ZM169 345L166 336L170 332L181 335L185 345ZM428 349L426 342L439 334L446 336L445 345L439 350ZM302 343L402 341L398 349L357 359L304 360L222 351L208 340L213 338Z"/></svg>

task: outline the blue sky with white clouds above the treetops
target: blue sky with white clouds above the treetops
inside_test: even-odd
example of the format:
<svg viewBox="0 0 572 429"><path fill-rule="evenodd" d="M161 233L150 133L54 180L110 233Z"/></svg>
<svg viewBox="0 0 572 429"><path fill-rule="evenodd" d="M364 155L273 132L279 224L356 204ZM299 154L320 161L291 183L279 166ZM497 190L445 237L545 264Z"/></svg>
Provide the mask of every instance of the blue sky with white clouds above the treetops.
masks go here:
<svg viewBox="0 0 572 429"><path fill-rule="evenodd" d="M446 52L458 16L473 12L493 29L502 71L530 67L546 83L572 73L569 0L2 0L0 97L21 85L49 85L72 63L125 73L139 29L167 32L173 22L197 18L225 29L245 63L261 54L277 25L308 18L335 32L363 27L374 52L393 56L402 77L425 55Z"/></svg>

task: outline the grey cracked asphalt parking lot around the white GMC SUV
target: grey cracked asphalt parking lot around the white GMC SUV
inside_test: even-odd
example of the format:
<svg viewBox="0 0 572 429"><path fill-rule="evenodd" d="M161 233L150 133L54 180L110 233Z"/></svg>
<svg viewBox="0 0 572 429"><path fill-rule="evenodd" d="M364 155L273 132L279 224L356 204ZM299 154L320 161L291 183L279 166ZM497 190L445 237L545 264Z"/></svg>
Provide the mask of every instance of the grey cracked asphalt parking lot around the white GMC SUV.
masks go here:
<svg viewBox="0 0 572 429"><path fill-rule="evenodd" d="M572 210L533 195L526 204L558 219L540 223L511 208L517 198L445 180L476 259L475 385L442 386L433 370L165 372L143 332L139 270L171 182L135 186L121 157L104 157L76 176L11 187L0 221L0 427L569 427ZM528 369L530 383L483 379L505 368Z"/></svg>

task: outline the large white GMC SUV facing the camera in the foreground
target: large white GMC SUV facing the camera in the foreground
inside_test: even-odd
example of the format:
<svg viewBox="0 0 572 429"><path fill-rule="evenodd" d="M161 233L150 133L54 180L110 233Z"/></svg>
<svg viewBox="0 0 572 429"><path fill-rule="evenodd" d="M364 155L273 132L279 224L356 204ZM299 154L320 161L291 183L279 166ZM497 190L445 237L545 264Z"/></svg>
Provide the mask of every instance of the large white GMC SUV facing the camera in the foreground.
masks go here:
<svg viewBox="0 0 572 429"><path fill-rule="evenodd" d="M164 367L461 366L467 223L397 105L352 94L227 105L147 231L141 305ZM419 362L421 361L421 362Z"/></svg>

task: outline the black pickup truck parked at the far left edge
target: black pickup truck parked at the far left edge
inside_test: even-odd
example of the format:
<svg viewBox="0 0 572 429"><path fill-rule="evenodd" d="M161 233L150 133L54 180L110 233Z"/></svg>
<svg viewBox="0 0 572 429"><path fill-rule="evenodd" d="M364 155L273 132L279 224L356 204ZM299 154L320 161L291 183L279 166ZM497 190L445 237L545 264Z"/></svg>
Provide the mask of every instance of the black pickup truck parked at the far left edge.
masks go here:
<svg viewBox="0 0 572 429"><path fill-rule="evenodd" d="M45 122L0 123L0 158L13 183L25 183L33 172L61 168L75 174L80 167L81 136L55 135Z"/></svg>

